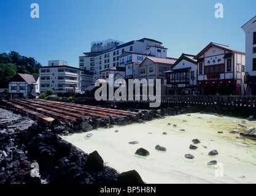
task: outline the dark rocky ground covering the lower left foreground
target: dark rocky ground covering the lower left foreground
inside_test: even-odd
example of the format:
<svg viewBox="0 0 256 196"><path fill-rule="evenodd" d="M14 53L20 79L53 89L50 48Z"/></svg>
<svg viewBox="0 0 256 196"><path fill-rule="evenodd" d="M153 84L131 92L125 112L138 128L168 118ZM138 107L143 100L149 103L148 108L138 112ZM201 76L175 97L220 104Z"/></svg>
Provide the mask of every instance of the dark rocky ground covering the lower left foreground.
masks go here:
<svg viewBox="0 0 256 196"><path fill-rule="evenodd" d="M97 151L84 153L62 140L70 125L45 126L0 108L0 184L144 183L135 170L119 174Z"/></svg>

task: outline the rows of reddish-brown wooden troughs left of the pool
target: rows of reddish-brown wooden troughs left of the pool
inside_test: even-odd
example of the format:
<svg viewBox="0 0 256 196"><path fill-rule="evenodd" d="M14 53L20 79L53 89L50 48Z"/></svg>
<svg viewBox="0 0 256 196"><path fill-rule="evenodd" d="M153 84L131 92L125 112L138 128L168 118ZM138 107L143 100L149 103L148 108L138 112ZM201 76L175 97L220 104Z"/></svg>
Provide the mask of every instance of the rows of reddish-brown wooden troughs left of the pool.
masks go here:
<svg viewBox="0 0 256 196"><path fill-rule="evenodd" d="M54 119L59 119L61 123L64 123L66 121L76 122L76 119L80 117L87 120L91 117L118 118L137 114L132 111L41 99L1 100L1 104L47 124L52 123Z"/></svg>

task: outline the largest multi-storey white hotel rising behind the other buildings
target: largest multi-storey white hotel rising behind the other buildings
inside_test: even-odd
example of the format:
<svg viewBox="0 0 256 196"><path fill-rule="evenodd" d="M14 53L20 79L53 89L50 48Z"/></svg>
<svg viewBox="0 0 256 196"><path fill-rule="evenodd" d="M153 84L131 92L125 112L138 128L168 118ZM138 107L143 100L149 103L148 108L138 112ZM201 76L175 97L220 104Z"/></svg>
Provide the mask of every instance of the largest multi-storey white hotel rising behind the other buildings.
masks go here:
<svg viewBox="0 0 256 196"><path fill-rule="evenodd" d="M162 44L163 43L158 42L157 40L143 38L140 40L133 40L131 42L123 43L104 51L96 50L89 53L83 53L85 56L79 57L79 67L80 69L94 72L95 75L93 76L93 81L95 81L97 78L103 77L101 73L103 73L104 70L115 66L125 67L126 64L130 62L120 60L120 55L125 52L166 58L168 49L164 48ZM137 61L138 60L136 59L134 62ZM131 62L133 62L133 60Z"/></svg>

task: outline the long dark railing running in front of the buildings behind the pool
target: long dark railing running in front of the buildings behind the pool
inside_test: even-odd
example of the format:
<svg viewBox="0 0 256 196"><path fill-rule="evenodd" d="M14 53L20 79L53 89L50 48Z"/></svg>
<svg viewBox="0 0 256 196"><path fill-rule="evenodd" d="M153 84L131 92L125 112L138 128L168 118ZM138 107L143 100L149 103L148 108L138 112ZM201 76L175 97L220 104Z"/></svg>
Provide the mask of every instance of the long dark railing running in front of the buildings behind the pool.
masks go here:
<svg viewBox="0 0 256 196"><path fill-rule="evenodd" d="M95 97L76 97L77 102L97 102ZM155 102L152 100L108 100L107 102ZM256 107L256 96L161 96L161 103L173 104L199 104L199 105L225 105L234 107Z"/></svg>

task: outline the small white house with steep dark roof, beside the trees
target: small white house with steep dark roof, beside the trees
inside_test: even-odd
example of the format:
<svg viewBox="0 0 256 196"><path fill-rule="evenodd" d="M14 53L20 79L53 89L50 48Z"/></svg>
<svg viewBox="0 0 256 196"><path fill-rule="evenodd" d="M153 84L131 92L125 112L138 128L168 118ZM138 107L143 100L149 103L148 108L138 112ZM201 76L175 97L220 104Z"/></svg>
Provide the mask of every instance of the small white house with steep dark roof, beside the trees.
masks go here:
<svg viewBox="0 0 256 196"><path fill-rule="evenodd" d="M39 75L16 74L9 82L10 98L37 98L40 92L39 80Z"/></svg>

